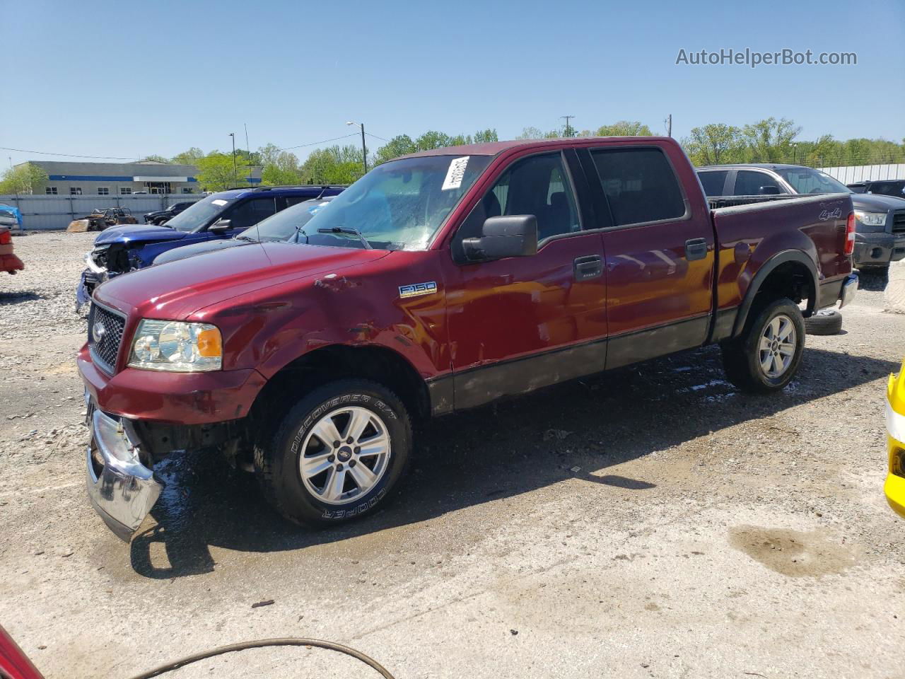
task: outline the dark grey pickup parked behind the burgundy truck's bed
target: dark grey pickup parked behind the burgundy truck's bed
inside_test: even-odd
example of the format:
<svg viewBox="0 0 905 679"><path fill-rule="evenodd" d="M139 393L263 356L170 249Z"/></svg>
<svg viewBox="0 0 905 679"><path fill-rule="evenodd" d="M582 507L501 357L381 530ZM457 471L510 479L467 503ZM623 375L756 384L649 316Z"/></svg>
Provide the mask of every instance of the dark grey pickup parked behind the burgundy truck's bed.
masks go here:
<svg viewBox="0 0 905 679"><path fill-rule="evenodd" d="M708 197L851 193L855 215L854 265L889 268L905 258L905 199L855 193L813 167L779 164L699 167Z"/></svg>

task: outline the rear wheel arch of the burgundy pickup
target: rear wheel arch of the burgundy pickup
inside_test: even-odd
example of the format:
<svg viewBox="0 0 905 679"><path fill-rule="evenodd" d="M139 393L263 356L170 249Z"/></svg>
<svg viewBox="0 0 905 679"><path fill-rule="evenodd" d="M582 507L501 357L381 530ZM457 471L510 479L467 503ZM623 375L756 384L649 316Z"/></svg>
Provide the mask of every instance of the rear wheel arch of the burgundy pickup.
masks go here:
<svg viewBox="0 0 905 679"><path fill-rule="evenodd" d="M732 337L738 337L745 328L758 295L763 299L765 294L772 298L788 292L784 296L794 301L806 298L807 307L803 312L806 318L814 312L819 289L817 266L806 253L801 250L776 253L760 266L751 279L745 298L738 307Z"/></svg>

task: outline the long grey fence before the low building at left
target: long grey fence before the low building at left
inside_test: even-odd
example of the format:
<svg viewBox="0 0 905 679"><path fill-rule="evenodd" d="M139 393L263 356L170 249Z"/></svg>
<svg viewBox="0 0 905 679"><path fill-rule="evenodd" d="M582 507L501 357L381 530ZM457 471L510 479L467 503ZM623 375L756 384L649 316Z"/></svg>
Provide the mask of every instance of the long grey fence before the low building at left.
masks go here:
<svg viewBox="0 0 905 679"><path fill-rule="evenodd" d="M0 203L16 206L22 213L24 229L64 229L94 208L126 207L138 219L146 212L163 210L174 203L197 201L204 194L157 194L148 196L0 196Z"/></svg>

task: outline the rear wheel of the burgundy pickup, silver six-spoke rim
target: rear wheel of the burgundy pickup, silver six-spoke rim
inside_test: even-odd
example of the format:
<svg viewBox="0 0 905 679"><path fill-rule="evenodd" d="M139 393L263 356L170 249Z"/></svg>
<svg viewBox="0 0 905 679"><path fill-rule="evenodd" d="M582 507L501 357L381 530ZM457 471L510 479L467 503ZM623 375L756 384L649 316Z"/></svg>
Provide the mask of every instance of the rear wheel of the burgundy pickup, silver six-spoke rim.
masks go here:
<svg viewBox="0 0 905 679"><path fill-rule="evenodd" d="M721 348L723 368L732 384L760 394L778 391L795 377L805 349L801 310L787 298L767 302L752 310L741 335Z"/></svg>

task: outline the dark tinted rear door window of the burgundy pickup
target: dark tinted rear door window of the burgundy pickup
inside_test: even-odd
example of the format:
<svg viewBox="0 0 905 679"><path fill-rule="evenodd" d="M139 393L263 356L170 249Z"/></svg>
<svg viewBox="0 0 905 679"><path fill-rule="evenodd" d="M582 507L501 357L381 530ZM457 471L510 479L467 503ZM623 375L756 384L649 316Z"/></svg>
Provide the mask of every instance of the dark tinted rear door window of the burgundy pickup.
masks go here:
<svg viewBox="0 0 905 679"><path fill-rule="evenodd" d="M642 224L685 215L679 180L659 148L591 151L615 225Z"/></svg>

